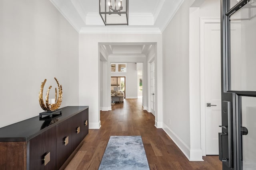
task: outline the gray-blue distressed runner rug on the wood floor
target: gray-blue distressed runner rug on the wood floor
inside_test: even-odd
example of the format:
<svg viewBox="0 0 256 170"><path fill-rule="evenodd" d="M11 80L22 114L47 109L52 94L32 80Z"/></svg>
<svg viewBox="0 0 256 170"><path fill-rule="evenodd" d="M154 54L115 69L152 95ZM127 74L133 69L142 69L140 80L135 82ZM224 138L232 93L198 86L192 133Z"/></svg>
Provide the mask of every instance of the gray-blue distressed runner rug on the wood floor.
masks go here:
<svg viewBox="0 0 256 170"><path fill-rule="evenodd" d="M149 170L141 136L110 136L99 170Z"/></svg>

